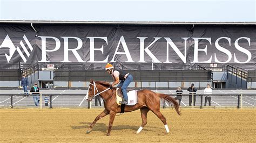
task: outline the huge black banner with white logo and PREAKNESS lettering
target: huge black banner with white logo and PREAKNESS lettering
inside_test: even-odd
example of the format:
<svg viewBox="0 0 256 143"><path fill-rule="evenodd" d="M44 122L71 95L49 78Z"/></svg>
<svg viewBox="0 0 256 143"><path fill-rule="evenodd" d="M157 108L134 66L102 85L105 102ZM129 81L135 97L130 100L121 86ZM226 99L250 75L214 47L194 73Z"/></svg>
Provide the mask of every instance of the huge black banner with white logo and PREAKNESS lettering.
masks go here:
<svg viewBox="0 0 256 143"><path fill-rule="evenodd" d="M35 25L35 24L34 24ZM255 70L253 25L0 25L0 63L231 64ZM129 69L129 67L127 67ZM130 68L131 69L131 68Z"/></svg>

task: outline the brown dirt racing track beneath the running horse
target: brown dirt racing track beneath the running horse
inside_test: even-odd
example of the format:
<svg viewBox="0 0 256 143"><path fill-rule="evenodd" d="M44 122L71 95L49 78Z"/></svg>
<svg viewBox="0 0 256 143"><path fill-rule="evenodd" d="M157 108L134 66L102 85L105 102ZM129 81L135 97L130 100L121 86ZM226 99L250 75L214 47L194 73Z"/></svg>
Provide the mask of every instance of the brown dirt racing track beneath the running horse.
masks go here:
<svg viewBox="0 0 256 143"><path fill-rule="evenodd" d="M103 109L1 109L0 142L3 141L251 141L255 142L255 109L183 109L178 116L172 109L161 112L170 133L152 112L145 128L136 134L142 121L140 112L117 116L111 137L106 136L109 116L98 121L90 134L89 124Z"/></svg>

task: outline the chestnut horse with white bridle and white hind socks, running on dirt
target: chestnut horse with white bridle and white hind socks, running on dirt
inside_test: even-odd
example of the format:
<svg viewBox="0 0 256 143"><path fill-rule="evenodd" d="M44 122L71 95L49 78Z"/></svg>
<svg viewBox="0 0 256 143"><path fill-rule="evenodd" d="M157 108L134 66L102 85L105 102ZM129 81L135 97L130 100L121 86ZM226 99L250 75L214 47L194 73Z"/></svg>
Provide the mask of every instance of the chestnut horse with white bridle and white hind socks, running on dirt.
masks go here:
<svg viewBox="0 0 256 143"><path fill-rule="evenodd" d="M87 134L91 132L92 127L96 124L97 120L103 118L106 115L110 115L109 128L107 135L110 135L111 127L113 125L114 117L117 113L120 113L121 106L118 106L116 103L116 88L110 88L108 82L101 81L92 81L90 82L87 94L86 101L92 101L92 98L96 95L100 95L104 101L105 110L100 113L95 120L91 123L90 127L87 130ZM160 112L160 98L165 99L176 109L178 115L180 115L179 104L176 100L165 94L158 94L151 90L143 89L137 91L138 103L132 106L125 106L125 112L131 112L134 110L140 109L142 115L142 125L139 127L137 133L142 131L143 127L147 124L147 112L152 111L161 121L163 121L166 132L169 133L169 128L166 123L166 119L163 114Z"/></svg>

